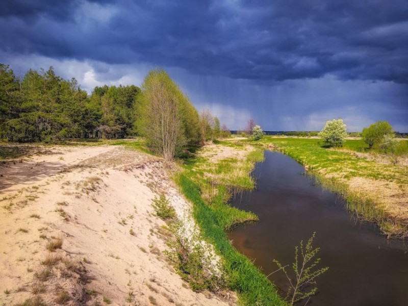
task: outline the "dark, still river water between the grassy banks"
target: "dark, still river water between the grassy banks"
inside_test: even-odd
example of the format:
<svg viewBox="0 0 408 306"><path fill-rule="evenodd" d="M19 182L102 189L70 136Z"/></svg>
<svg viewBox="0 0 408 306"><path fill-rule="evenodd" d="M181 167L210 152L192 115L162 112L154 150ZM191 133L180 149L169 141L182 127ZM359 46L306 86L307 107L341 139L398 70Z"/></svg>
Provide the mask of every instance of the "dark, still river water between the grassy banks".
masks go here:
<svg viewBox="0 0 408 306"><path fill-rule="evenodd" d="M234 246L268 275L277 269L273 259L291 265L295 245L316 231L314 245L329 270L317 279L319 293L308 305L408 305L407 243L387 241L376 226L356 222L340 197L315 186L290 157L265 151L265 158L252 173L257 190L232 201L259 216L228 234ZM286 293L282 271L269 277Z"/></svg>

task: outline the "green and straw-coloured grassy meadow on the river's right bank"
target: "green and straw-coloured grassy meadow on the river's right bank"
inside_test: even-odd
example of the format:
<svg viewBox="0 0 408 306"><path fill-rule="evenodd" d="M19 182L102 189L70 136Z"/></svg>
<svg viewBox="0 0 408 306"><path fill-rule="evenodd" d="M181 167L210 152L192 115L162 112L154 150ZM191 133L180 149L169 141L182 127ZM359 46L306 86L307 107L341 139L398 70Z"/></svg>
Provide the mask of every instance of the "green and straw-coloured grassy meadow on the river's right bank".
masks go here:
<svg viewBox="0 0 408 306"><path fill-rule="evenodd" d="M406 155L361 152L365 144L360 139L346 139L342 148L326 148L320 139L308 138L265 136L245 142L281 150L304 165L317 182L343 195L356 216L377 223L389 237L408 236ZM405 140L400 143L407 145Z"/></svg>

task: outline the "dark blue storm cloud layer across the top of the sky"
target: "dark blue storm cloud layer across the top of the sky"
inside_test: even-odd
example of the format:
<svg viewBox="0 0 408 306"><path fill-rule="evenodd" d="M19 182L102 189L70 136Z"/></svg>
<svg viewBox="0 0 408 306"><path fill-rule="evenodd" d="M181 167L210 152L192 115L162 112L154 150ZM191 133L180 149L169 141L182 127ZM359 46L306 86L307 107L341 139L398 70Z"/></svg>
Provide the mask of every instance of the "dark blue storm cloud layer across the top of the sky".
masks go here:
<svg viewBox="0 0 408 306"><path fill-rule="evenodd" d="M29 25L28 25L29 24ZM232 79L408 83L406 1L6 1L8 53Z"/></svg>

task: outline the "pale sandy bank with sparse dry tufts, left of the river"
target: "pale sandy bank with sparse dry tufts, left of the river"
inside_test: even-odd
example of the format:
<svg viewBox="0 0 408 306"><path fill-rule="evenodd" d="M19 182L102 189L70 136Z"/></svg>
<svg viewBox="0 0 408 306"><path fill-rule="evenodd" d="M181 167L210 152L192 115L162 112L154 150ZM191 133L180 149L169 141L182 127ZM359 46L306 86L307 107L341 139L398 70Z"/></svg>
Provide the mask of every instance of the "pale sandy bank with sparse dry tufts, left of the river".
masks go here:
<svg viewBox="0 0 408 306"><path fill-rule="evenodd" d="M116 146L60 152L33 158L39 170L24 181L6 176L18 184L3 189L0 202L0 305L34 296L53 305L64 292L68 305L236 303L233 293L193 292L167 263L153 190L165 191L179 215L190 216L190 204L163 161ZM62 247L50 252L55 238Z"/></svg>

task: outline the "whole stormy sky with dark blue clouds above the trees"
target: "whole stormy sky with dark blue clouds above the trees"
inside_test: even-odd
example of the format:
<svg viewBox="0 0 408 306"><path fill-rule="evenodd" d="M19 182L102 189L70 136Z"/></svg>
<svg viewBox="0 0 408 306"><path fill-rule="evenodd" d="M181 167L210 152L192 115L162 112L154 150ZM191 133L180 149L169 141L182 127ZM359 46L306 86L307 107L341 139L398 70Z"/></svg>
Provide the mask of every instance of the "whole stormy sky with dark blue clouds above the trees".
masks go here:
<svg viewBox="0 0 408 306"><path fill-rule="evenodd" d="M231 130L408 132L406 0L3 0L0 62L95 86L162 67Z"/></svg>

